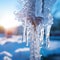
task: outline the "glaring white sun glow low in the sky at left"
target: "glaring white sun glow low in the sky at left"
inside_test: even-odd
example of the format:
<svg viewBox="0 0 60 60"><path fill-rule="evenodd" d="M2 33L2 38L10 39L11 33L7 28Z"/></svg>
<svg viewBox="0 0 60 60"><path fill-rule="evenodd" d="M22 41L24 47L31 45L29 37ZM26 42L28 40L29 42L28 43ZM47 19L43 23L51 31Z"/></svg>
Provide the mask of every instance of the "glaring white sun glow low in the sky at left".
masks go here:
<svg viewBox="0 0 60 60"><path fill-rule="evenodd" d="M3 26L5 29L14 28L21 24L21 22L15 20L15 15L11 13L5 14L0 20L0 25Z"/></svg>

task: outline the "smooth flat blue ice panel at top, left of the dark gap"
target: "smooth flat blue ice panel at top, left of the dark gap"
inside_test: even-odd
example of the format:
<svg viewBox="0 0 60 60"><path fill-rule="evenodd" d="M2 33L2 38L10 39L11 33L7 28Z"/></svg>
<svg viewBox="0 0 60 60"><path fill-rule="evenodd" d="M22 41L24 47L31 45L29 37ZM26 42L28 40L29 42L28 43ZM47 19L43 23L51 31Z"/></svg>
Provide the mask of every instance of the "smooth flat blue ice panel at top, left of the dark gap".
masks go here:
<svg viewBox="0 0 60 60"><path fill-rule="evenodd" d="M35 3L35 16L42 17L42 0L36 0Z"/></svg>

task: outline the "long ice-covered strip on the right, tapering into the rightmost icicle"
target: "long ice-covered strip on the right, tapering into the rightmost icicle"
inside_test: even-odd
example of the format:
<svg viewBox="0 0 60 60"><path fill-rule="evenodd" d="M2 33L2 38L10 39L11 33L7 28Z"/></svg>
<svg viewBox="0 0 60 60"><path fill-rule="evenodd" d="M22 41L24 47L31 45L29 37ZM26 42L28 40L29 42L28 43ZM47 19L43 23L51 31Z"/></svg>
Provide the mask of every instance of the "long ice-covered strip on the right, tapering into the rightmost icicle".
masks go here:
<svg viewBox="0 0 60 60"><path fill-rule="evenodd" d="M53 17L52 15L50 14L51 12L51 8L53 6L53 4L56 2L56 0L44 0L43 3L43 18L44 18L44 34L45 34L45 38L44 39L44 44L46 45L46 47L49 46L49 41L50 41L50 29L51 29L51 26L53 24Z"/></svg>

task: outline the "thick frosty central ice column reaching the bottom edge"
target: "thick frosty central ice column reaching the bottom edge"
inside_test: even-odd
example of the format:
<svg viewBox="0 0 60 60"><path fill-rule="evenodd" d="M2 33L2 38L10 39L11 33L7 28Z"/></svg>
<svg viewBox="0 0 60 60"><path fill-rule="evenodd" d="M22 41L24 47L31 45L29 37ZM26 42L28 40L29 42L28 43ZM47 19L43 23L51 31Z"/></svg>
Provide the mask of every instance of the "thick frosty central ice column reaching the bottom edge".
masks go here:
<svg viewBox="0 0 60 60"><path fill-rule="evenodd" d="M30 41L30 60L40 60L40 43L37 30L32 28L32 39Z"/></svg>

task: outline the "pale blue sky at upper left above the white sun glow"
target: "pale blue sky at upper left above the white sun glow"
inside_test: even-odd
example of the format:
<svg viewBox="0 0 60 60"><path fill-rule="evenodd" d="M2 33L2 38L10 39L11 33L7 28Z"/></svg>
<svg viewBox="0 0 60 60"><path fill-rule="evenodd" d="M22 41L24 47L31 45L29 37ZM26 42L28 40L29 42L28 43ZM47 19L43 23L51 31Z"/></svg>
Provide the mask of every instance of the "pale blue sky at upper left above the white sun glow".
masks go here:
<svg viewBox="0 0 60 60"><path fill-rule="evenodd" d="M0 19L6 14L13 14L16 10L17 0L0 0Z"/></svg>

